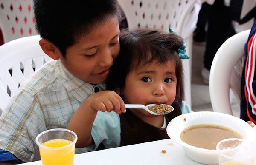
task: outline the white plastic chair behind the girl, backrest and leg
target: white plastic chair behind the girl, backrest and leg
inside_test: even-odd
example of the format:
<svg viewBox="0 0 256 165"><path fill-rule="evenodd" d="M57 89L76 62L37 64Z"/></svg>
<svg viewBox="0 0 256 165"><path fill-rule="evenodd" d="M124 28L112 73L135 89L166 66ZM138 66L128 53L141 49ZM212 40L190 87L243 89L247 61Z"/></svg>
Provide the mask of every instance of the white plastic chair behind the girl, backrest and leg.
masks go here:
<svg viewBox="0 0 256 165"><path fill-rule="evenodd" d="M172 28L186 40L190 60L183 60L185 100L191 105L192 33L196 28L201 0L118 0L128 28Z"/></svg>

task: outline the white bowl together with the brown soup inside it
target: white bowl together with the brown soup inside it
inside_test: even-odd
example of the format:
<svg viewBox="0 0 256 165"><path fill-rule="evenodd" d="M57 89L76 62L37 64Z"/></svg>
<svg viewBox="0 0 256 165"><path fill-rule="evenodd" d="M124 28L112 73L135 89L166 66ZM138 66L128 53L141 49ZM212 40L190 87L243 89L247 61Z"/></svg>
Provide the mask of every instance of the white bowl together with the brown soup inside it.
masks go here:
<svg viewBox="0 0 256 165"><path fill-rule="evenodd" d="M218 164L218 153L215 148L218 140L235 136L253 141L255 137L253 128L247 122L218 112L192 112L175 117L167 126L167 134L175 142L183 145L186 155L191 159L209 165ZM208 134L208 137L198 136L202 134Z"/></svg>

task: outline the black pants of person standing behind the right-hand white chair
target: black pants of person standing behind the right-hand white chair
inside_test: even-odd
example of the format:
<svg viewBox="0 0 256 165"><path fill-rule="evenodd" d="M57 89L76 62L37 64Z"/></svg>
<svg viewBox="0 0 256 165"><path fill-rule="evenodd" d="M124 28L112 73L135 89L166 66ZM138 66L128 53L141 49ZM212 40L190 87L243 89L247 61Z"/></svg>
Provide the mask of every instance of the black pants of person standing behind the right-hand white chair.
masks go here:
<svg viewBox="0 0 256 165"><path fill-rule="evenodd" d="M231 25L232 20L239 20L243 0L232 0L230 7L224 6L224 0L215 0L209 16L204 67L210 70L212 60L218 48L227 37L236 34Z"/></svg>

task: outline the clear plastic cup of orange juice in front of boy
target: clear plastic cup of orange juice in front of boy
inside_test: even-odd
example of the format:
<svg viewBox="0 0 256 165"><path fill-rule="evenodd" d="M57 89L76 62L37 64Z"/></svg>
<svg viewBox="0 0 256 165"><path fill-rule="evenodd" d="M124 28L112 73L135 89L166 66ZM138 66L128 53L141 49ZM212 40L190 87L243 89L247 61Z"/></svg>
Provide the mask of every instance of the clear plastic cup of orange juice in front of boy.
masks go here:
<svg viewBox="0 0 256 165"><path fill-rule="evenodd" d="M50 129L35 139L42 165L73 165L77 136L67 129Z"/></svg>

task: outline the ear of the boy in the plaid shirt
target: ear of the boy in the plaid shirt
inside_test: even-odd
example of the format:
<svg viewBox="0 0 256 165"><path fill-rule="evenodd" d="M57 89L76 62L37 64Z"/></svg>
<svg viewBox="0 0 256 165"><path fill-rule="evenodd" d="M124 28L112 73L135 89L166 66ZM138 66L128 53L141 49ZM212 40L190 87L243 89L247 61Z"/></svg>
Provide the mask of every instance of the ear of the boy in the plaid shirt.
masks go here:
<svg viewBox="0 0 256 165"><path fill-rule="evenodd" d="M39 41L39 45L41 49L54 60L58 60L60 58L61 53L59 52L58 48L50 41L46 39L41 39Z"/></svg>

